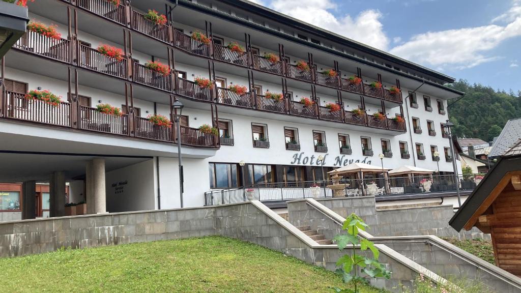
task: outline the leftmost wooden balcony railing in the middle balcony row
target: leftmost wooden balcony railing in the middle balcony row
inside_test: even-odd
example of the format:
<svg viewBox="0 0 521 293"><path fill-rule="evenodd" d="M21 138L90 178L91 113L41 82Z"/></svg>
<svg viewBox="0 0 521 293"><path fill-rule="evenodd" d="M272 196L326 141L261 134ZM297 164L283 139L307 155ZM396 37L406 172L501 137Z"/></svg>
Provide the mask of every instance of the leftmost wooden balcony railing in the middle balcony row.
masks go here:
<svg viewBox="0 0 521 293"><path fill-rule="evenodd" d="M15 43L14 47L59 61L70 62L71 45L69 40L56 40L28 31Z"/></svg>

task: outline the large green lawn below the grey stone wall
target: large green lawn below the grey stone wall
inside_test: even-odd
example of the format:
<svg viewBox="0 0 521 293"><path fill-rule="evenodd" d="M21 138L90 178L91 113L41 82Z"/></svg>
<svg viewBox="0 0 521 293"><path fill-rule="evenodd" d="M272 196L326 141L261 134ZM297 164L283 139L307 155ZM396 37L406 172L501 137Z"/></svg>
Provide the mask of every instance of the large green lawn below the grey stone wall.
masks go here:
<svg viewBox="0 0 521 293"><path fill-rule="evenodd" d="M340 277L223 237L0 259L0 292L332 292ZM379 292L364 287L364 293Z"/></svg>

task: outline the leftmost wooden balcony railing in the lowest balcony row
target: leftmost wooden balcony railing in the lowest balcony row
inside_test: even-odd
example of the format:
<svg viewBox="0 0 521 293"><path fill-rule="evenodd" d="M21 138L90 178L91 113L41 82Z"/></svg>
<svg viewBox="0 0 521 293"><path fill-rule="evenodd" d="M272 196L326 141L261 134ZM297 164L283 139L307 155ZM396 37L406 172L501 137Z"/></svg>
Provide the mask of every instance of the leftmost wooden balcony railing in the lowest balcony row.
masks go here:
<svg viewBox="0 0 521 293"><path fill-rule="evenodd" d="M32 122L70 126L70 103L57 106L39 100L27 100L24 94L6 91L7 117Z"/></svg>

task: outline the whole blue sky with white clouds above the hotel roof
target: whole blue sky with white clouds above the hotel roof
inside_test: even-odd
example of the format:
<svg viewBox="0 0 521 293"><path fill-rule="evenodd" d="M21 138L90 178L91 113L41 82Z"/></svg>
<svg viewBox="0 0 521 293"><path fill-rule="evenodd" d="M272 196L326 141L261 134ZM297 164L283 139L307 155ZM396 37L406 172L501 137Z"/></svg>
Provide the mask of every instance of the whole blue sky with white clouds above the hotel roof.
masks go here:
<svg viewBox="0 0 521 293"><path fill-rule="evenodd" d="M470 83L521 90L521 0L250 0Z"/></svg>

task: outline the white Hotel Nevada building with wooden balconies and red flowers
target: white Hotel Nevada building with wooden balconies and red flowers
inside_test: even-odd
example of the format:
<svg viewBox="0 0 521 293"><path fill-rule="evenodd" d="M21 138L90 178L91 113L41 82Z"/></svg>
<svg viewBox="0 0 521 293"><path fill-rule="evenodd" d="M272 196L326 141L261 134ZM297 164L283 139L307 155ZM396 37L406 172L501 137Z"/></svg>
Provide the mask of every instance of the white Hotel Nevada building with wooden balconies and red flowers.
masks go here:
<svg viewBox="0 0 521 293"><path fill-rule="evenodd" d="M13 219L45 182L51 216L66 201L86 201L88 213L179 207L179 140L184 207L207 204L213 189L321 180L352 162L452 173L441 128L463 94L445 86L452 77L247 1L28 6L31 22L61 36L28 29L2 60L0 182L29 190L0 197L0 213L20 203ZM121 56L103 53L112 47ZM27 99L31 90L61 102Z"/></svg>

